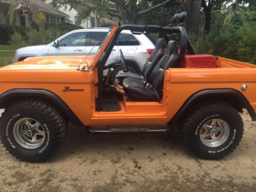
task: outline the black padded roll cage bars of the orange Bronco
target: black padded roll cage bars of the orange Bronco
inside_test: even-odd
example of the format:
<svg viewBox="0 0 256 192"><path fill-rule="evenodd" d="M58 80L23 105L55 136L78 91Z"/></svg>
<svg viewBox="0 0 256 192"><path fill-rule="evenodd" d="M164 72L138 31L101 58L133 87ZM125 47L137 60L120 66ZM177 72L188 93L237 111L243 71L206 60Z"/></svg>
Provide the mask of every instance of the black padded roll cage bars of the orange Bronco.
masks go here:
<svg viewBox="0 0 256 192"><path fill-rule="evenodd" d="M97 100L97 111L102 111L102 86L103 86L103 70L106 60L108 60L112 49L114 48L117 38L122 30L131 30L132 33L161 33L166 32L169 34L180 35L180 54L178 62L182 62L186 55L186 50L189 54L196 54L194 47L191 45L190 40L187 37L186 30L183 27L162 27L162 26L150 26L150 25L122 25L118 28L109 46L106 48L105 53L99 60L98 65L98 100Z"/></svg>

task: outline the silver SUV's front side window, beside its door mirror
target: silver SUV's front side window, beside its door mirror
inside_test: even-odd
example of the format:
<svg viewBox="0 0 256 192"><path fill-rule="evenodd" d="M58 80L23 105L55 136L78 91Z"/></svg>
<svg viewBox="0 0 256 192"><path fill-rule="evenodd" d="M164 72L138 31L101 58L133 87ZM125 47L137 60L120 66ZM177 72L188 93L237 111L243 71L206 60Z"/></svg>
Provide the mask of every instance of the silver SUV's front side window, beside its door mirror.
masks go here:
<svg viewBox="0 0 256 192"><path fill-rule="evenodd" d="M84 46L87 32L78 32L68 35L59 40L59 47L77 47Z"/></svg>

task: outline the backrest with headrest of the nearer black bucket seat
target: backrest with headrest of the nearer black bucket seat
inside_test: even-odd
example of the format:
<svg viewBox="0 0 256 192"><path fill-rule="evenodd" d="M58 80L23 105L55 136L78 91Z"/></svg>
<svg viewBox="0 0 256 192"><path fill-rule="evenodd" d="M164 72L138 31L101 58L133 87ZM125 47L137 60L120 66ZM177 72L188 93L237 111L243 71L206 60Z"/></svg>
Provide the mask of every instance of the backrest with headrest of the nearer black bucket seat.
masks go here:
<svg viewBox="0 0 256 192"><path fill-rule="evenodd" d="M157 63L148 80L158 92L161 91L163 87L164 71L176 65L178 58L177 42L170 40L167 45L166 54Z"/></svg>

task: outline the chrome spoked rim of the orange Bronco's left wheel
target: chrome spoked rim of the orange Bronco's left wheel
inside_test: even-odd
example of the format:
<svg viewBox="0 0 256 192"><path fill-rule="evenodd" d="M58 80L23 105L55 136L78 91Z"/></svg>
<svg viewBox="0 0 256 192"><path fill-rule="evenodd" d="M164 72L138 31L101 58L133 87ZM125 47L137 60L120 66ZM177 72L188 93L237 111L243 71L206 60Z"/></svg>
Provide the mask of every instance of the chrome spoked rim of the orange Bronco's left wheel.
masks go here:
<svg viewBox="0 0 256 192"><path fill-rule="evenodd" d="M14 124L13 136L20 146L33 150L44 143L46 134L38 121L31 118L23 118Z"/></svg>

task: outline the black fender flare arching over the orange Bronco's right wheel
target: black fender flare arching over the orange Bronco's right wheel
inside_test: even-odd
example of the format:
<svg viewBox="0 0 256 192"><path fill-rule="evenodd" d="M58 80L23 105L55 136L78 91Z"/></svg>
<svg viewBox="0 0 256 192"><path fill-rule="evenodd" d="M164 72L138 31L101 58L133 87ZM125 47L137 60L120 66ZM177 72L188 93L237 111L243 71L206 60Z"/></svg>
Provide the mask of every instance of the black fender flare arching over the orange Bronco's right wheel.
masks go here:
<svg viewBox="0 0 256 192"><path fill-rule="evenodd" d="M183 115L185 115L185 113L189 110L190 106L200 101L200 99L216 96L231 96L238 99L238 101L243 103L244 108L247 109L248 113L251 116L251 119L253 121L256 121L256 113L252 109L252 106L250 105L249 101L240 91L235 89L204 89L191 95L184 102L184 104L181 106L179 111L174 115L174 117L169 121L169 123L172 124L178 121Z"/></svg>

